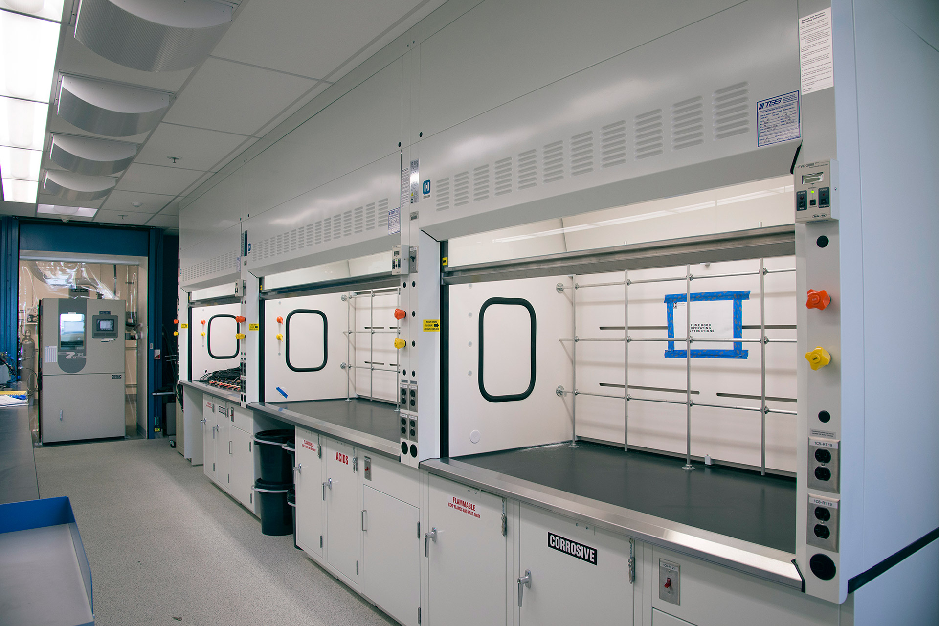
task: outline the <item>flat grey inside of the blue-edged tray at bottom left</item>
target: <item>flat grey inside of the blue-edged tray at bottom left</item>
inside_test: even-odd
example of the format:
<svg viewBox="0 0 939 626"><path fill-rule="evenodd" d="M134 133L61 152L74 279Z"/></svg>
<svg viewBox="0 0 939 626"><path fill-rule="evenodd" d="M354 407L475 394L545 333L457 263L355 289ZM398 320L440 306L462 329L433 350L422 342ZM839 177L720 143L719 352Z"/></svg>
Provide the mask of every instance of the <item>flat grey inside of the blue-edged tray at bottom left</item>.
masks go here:
<svg viewBox="0 0 939 626"><path fill-rule="evenodd" d="M70 526L0 534L0 621L4 624L94 623Z"/></svg>

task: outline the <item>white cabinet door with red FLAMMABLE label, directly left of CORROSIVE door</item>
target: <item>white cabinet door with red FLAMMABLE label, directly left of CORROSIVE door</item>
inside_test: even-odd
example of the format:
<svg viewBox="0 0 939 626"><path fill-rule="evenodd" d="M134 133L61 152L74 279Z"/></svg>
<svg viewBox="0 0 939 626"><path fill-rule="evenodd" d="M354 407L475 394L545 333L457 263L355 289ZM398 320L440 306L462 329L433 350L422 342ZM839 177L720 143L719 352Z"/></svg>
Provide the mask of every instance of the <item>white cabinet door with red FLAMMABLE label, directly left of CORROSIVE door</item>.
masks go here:
<svg viewBox="0 0 939 626"><path fill-rule="evenodd" d="M430 591L430 623L504 624L505 537L502 498L429 477L427 518L436 541L422 537Z"/></svg>

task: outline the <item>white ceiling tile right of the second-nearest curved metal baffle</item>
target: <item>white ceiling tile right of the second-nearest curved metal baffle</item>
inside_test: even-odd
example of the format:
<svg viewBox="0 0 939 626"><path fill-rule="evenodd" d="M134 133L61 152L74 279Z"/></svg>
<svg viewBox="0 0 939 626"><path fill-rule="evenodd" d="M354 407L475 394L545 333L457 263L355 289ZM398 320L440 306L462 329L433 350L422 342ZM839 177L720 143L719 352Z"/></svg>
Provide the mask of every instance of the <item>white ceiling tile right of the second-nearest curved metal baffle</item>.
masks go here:
<svg viewBox="0 0 939 626"><path fill-rule="evenodd" d="M269 69L208 58L163 121L252 135L314 84Z"/></svg>

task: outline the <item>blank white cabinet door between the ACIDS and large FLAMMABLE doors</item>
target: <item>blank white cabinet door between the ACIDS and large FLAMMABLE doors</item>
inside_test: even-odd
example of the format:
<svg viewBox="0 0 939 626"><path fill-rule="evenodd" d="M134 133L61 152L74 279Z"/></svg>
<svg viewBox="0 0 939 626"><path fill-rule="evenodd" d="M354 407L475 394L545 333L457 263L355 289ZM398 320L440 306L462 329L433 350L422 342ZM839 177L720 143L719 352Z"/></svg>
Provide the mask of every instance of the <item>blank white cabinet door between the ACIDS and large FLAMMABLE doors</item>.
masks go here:
<svg viewBox="0 0 939 626"><path fill-rule="evenodd" d="M417 626L421 511L368 485L362 489L362 510L365 595L401 623Z"/></svg>

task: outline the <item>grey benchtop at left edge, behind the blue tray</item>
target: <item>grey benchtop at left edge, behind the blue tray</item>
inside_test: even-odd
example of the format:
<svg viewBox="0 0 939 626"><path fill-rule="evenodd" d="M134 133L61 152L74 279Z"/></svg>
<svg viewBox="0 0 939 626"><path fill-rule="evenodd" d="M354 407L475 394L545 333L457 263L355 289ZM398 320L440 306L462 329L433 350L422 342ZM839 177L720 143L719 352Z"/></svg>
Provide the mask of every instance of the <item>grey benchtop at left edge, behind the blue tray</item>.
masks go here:
<svg viewBox="0 0 939 626"><path fill-rule="evenodd" d="M0 504L35 500L39 496L30 406L0 408Z"/></svg>

